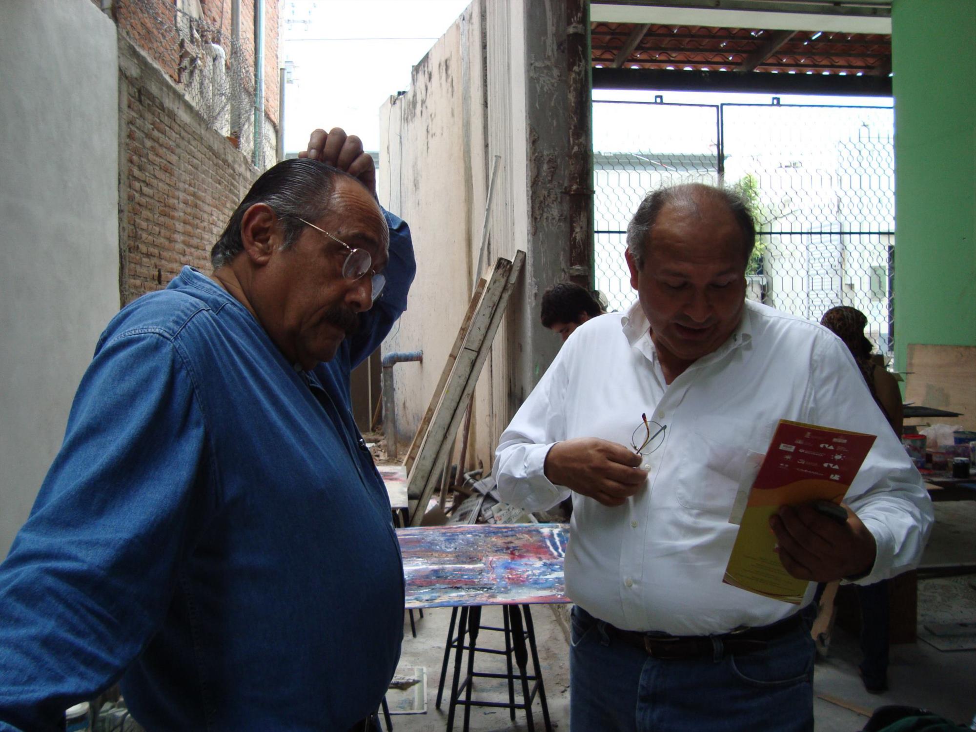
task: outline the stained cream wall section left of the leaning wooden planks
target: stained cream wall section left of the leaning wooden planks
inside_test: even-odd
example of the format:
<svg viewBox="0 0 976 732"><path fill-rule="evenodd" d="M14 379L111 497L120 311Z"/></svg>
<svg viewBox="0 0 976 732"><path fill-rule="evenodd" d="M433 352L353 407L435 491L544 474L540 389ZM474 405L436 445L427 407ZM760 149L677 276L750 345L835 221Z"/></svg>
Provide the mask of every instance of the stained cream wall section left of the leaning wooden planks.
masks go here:
<svg viewBox="0 0 976 732"><path fill-rule="evenodd" d="M476 11L468 7L414 67L410 91L381 109L380 200L410 224L418 262L407 312L383 352L424 351L423 363L393 367L401 455L454 344L478 256L486 182Z"/></svg>

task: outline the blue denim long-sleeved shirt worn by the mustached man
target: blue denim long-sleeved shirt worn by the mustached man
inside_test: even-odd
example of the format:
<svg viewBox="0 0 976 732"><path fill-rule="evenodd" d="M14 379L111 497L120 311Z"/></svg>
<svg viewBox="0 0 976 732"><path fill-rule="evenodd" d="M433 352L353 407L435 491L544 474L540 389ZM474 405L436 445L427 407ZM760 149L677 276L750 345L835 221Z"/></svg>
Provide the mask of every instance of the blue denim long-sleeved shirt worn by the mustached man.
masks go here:
<svg viewBox="0 0 976 732"><path fill-rule="evenodd" d="M118 680L153 731L346 730L376 711L403 570L348 385L415 272L386 216L386 290L312 371L189 267L108 324L0 565L0 730L63 730Z"/></svg>

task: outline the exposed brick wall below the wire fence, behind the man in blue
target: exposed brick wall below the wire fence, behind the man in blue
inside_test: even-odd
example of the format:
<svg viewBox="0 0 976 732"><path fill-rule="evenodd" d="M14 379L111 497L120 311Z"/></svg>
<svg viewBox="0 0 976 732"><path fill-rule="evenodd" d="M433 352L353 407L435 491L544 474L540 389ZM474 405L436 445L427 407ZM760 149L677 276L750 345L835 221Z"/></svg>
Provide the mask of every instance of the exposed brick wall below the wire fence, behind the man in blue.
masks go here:
<svg viewBox="0 0 976 732"><path fill-rule="evenodd" d="M119 106L125 305L165 287L183 264L210 272L210 248L258 171L122 34Z"/></svg>

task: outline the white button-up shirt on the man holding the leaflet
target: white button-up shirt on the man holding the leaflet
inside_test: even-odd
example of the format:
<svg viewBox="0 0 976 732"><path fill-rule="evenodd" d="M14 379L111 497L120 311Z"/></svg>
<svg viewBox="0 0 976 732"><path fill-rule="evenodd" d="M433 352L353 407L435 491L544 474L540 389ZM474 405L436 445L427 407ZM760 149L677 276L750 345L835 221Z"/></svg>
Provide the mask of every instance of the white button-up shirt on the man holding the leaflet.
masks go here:
<svg viewBox="0 0 976 732"><path fill-rule="evenodd" d="M641 413L666 425L645 487L608 508L553 485L549 448L572 437L630 445ZM921 476L874 403L847 347L826 328L752 302L728 341L670 385L639 303L576 329L502 434L502 499L529 510L572 493L566 590L624 630L675 635L763 626L796 606L722 584L728 523L779 420L877 435L846 503L874 535L871 584L914 567L932 524ZM803 604L811 601L810 584Z"/></svg>

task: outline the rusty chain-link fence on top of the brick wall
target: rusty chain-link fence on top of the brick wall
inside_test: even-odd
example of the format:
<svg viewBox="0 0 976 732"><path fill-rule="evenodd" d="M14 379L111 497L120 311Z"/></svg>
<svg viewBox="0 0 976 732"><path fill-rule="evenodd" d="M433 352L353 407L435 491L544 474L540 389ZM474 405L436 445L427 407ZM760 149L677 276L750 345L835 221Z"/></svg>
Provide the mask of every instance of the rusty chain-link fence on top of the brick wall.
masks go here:
<svg viewBox="0 0 976 732"><path fill-rule="evenodd" d="M277 132L255 102L253 54L229 32L229 5L208 18L197 0L115 0L115 14L207 124L264 170L275 162Z"/></svg>

